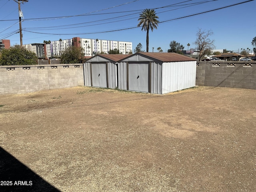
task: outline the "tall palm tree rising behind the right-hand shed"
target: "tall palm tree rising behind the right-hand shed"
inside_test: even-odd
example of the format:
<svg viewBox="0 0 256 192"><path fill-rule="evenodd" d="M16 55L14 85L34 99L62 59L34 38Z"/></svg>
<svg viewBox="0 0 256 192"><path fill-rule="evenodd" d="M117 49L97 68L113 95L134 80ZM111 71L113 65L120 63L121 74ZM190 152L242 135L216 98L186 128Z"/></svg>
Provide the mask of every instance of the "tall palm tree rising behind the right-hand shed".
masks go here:
<svg viewBox="0 0 256 192"><path fill-rule="evenodd" d="M156 15L154 9L145 9L141 14L140 17L138 18L139 24L138 27L142 25L142 31L147 32L147 38L146 38L146 46L147 46L147 52L148 52L148 34L149 30L151 29L152 31L157 29L159 21L157 20L159 17Z"/></svg>

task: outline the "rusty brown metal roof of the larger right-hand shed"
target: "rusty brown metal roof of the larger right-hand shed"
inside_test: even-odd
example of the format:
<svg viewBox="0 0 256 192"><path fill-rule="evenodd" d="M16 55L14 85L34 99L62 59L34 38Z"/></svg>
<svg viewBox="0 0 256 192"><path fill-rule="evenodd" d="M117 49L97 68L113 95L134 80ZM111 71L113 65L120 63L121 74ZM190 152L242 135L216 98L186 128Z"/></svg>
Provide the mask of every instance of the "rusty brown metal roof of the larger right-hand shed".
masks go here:
<svg viewBox="0 0 256 192"><path fill-rule="evenodd" d="M149 56L151 58L155 58L162 62L178 62L178 61L196 61L194 58L190 58L185 55L181 55L178 53L153 53L153 52L139 52L137 54L142 54L145 56Z"/></svg>

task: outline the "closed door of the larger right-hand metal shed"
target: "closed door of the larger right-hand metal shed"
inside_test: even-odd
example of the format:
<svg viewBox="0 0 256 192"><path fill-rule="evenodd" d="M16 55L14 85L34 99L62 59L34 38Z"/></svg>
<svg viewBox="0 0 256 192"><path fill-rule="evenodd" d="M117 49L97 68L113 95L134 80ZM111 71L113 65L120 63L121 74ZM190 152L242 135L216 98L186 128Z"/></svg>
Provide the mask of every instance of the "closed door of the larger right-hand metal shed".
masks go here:
<svg viewBox="0 0 256 192"><path fill-rule="evenodd" d="M148 92L148 63L128 64L129 90Z"/></svg>

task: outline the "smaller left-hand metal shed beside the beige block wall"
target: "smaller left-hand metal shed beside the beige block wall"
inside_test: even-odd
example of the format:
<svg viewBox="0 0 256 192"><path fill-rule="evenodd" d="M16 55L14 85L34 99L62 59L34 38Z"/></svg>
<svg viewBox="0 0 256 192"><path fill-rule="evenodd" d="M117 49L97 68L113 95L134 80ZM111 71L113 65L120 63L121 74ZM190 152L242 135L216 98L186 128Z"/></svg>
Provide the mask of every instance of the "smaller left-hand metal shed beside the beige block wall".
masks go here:
<svg viewBox="0 0 256 192"><path fill-rule="evenodd" d="M93 87L116 88L118 60L126 58L122 54L99 54L84 63L84 85Z"/></svg>

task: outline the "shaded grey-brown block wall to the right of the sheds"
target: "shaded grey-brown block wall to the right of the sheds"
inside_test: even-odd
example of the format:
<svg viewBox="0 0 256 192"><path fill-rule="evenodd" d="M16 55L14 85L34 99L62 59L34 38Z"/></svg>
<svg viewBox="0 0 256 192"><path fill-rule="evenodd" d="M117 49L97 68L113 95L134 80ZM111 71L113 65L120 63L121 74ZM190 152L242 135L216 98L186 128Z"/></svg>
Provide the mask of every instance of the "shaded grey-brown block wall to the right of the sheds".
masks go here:
<svg viewBox="0 0 256 192"><path fill-rule="evenodd" d="M196 85L256 89L256 62L197 62Z"/></svg>

